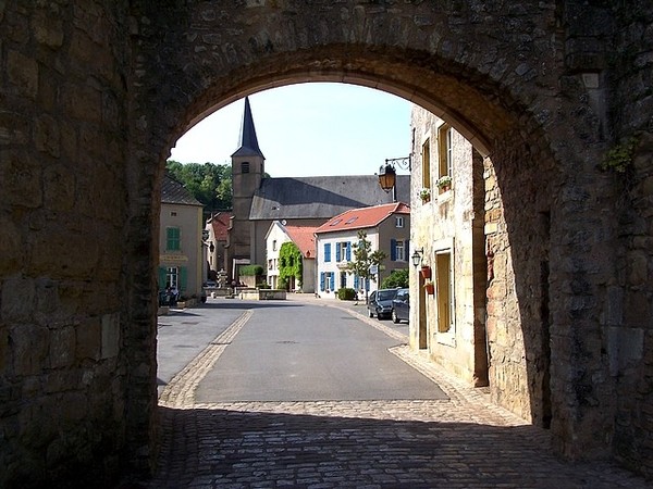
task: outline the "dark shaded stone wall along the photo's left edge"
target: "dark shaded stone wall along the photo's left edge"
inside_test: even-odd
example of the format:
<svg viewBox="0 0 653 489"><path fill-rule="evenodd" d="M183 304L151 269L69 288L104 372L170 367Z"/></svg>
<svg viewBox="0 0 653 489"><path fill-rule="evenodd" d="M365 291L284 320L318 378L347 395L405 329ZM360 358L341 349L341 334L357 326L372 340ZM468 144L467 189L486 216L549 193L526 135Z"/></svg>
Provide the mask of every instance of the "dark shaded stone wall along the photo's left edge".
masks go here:
<svg viewBox="0 0 653 489"><path fill-rule="evenodd" d="M110 484L125 447L122 2L0 3L0 486Z"/></svg>

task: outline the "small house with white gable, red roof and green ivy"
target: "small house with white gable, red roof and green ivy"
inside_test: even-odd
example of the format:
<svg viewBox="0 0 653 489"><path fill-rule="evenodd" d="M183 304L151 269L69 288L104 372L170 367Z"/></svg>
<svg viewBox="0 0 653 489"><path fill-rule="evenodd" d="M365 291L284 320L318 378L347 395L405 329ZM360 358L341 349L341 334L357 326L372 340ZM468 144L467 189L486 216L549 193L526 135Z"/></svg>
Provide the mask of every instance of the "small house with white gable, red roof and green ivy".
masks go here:
<svg viewBox="0 0 653 489"><path fill-rule="evenodd" d="M316 238L315 226L288 226L284 222L274 221L266 235L266 263L268 285L281 288L280 267L283 266L280 258L281 247L286 242L293 242L301 254L301 279L289 277L288 290L298 292L315 292L316 288Z"/></svg>

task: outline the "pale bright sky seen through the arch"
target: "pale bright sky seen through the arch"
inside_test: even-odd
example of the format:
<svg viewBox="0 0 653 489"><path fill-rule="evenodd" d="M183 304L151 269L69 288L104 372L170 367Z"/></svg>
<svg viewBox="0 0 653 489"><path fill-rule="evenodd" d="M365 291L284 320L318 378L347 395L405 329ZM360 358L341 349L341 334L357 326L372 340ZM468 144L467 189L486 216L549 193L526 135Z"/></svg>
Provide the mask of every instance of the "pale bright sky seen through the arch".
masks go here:
<svg viewBox="0 0 653 489"><path fill-rule="evenodd" d="M384 91L311 83L260 91L249 103L272 177L373 175L385 159L410 152L411 103ZM241 99L200 121L177 140L170 159L231 164L243 108Z"/></svg>

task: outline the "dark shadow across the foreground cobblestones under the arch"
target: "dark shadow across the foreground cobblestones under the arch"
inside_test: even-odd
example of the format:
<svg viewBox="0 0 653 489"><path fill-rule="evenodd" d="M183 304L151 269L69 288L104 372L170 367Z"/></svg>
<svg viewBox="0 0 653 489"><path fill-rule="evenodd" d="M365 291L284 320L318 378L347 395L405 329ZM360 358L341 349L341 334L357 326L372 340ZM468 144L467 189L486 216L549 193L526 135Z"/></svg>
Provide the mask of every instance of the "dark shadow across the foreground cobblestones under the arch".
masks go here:
<svg viewBox="0 0 653 489"><path fill-rule="evenodd" d="M451 419L459 406L435 409ZM227 409L159 415L162 449L148 487L649 487L608 462L557 459L549 434L530 425Z"/></svg>

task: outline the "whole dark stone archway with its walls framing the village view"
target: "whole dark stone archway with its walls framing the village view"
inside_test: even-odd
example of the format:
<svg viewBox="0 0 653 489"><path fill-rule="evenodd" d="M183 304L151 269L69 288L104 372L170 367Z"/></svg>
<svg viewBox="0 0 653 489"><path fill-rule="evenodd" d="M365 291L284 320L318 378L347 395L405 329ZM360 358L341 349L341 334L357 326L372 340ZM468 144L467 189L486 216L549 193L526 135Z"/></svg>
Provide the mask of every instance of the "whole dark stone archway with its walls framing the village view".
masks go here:
<svg viewBox="0 0 653 489"><path fill-rule="evenodd" d="M496 298L507 304L506 327L522 335L519 388L541 388L547 343L558 451L612 452L653 473L641 463L652 459L641 447L651 434L642 419L653 340L625 311L643 310L652 287L632 268L617 273L630 258L651 262L648 241L630 240L650 236L651 218L630 201L620 208L630 221L597 212L614 209L616 190L596 171L617 136L650 138L639 115L650 108L645 57L607 59L619 47L653 52L650 36L637 35L651 5L630 16L609 5L584 5L581 15L571 0L83 3L0 7L8 484L110 476L121 459L147 465L156 444L151 237L169 148L246 93L310 80L414 101L492 160L504 209ZM640 148L636 159L636 202L651 193L642 184L650 153ZM617 414L631 425L617 425Z"/></svg>

